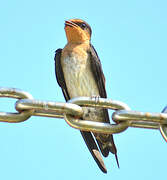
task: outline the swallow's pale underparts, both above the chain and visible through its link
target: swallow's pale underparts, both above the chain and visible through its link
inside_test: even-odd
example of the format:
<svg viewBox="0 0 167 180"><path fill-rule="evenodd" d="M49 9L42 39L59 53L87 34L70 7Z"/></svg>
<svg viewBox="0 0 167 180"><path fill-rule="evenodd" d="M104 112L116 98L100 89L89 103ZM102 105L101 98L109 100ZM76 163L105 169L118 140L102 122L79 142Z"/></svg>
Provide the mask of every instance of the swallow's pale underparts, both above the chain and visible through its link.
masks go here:
<svg viewBox="0 0 167 180"><path fill-rule="evenodd" d="M64 78L70 98L86 96L99 96L97 83L91 71L89 59L66 58L62 61ZM83 107L83 119L91 121L104 121L101 108Z"/></svg>

